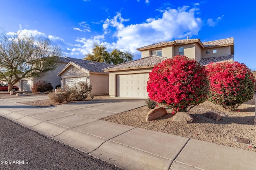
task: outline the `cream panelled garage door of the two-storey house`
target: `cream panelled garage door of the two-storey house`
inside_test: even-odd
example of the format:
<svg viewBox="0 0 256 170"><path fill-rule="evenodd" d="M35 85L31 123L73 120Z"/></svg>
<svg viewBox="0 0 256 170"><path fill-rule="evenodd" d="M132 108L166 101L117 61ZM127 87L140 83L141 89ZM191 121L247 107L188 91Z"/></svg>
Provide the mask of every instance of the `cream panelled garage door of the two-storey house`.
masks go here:
<svg viewBox="0 0 256 170"><path fill-rule="evenodd" d="M117 75L117 96L147 98L148 77L149 73Z"/></svg>

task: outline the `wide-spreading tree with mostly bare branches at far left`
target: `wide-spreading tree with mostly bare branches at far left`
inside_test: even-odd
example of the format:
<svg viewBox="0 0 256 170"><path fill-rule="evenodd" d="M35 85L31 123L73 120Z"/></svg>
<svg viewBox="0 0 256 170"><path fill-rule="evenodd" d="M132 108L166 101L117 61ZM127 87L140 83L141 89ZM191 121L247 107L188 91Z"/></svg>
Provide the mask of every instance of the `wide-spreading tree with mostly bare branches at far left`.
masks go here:
<svg viewBox="0 0 256 170"><path fill-rule="evenodd" d="M8 91L22 78L39 78L57 67L60 47L48 38L0 33L0 79L8 82Z"/></svg>

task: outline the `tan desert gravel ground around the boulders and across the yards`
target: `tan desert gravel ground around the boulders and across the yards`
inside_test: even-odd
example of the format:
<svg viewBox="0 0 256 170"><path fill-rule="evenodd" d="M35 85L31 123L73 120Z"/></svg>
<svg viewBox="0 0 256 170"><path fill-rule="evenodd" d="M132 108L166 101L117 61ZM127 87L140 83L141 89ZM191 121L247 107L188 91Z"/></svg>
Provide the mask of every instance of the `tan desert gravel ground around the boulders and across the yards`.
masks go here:
<svg viewBox="0 0 256 170"><path fill-rule="evenodd" d="M0 95L0 98L4 98L4 96ZM255 97L256 94L254 99L242 104L242 106L238 107L237 111L231 112L206 101L190 109L188 113L192 115L194 121L188 124L173 122L171 109L167 109L168 114L163 117L146 122L146 115L150 111L147 106L105 117L102 120L256 152L256 125L254 125ZM95 99L99 98L108 98L108 96L95 96ZM87 100L90 99L88 98ZM40 100L36 102L22 102L22 104L44 107L52 103L50 100ZM208 111L218 113L222 116L222 119L215 121L204 117L202 113ZM236 143L236 137L250 139L252 145Z"/></svg>

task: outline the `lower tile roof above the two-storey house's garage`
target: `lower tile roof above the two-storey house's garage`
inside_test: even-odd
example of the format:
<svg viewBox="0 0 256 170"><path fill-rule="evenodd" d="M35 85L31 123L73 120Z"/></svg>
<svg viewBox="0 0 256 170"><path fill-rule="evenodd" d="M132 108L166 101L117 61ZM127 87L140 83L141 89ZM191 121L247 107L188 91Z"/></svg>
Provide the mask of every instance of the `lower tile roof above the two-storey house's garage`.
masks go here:
<svg viewBox="0 0 256 170"><path fill-rule="evenodd" d="M151 55L149 57L145 57L142 59L137 59L133 61L128 61L126 63L117 64L114 66L110 66L107 68L104 68L104 71L108 70L115 70L115 69L122 69L122 68L136 68L136 67L142 67L142 66L154 66L158 63L161 63L162 61L166 60L168 58L166 57L160 57L156 55Z"/></svg>

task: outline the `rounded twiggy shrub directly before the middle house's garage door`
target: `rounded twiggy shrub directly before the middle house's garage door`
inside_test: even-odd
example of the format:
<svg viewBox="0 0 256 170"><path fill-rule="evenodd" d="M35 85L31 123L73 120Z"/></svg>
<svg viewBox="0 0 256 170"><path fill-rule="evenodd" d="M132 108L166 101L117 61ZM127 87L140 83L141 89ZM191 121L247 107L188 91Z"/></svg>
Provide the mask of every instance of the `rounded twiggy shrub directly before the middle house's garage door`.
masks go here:
<svg viewBox="0 0 256 170"><path fill-rule="evenodd" d="M82 100L86 99L90 92L92 92L92 85L87 84L84 81L74 83L72 86L67 87L67 91L70 93L70 100Z"/></svg>

